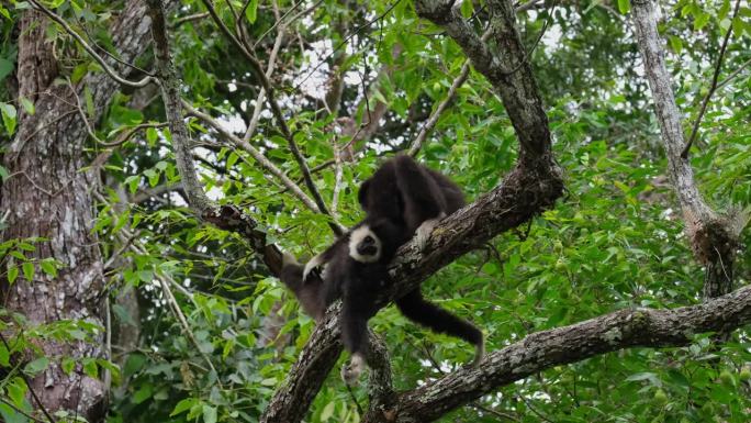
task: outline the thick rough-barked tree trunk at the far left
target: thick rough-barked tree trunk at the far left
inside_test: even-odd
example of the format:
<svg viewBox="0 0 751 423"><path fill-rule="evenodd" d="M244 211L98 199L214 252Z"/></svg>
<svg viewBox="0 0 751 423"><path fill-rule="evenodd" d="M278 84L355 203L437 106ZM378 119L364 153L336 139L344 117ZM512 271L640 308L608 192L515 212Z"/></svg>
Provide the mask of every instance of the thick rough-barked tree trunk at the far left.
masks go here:
<svg viewBox="0 0 751 423"><path fill-rule="evenodd" d="M121 58L132 62L148 45L148 18L138 1L125 4L113 19L111 35ZM19 37L18 77L21 96L35 103L36 113L20 115L19 131L3 157L10 177L2 186L0 201L8 210L8 229L2 240L45 237L32 259L54 257L65 266L57 278L37 268L33 281L5 285L9 309L29 316L33 323L86 319L102 324L102 258L91 233L94 208L91 190L97 178L80 169L89 165L83 151L87 131L69 87L52 85L57 68L52 46L45 43L48 21L37 11L23 12ZM120 67L113 66L117 69ZM87 76L76 90L88 86L94 104L94 120L104 111L119 85L103 74ZM41 345L47 357L102 357L103 333L88 342ZM55 360L53 360L55 361ZM102 381L65 375L56 365L32 380L32 389L45 408L74 410L90 422L103 419L107 389Z"/></svg>

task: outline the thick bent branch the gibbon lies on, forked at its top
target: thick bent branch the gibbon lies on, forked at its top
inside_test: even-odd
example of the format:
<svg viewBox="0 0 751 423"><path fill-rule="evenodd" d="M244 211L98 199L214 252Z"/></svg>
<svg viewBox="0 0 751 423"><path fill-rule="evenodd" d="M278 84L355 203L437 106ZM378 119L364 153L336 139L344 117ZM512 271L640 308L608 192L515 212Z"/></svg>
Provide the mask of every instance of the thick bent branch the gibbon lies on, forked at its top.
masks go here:
<svg viewBox="0 0 751 423"><path fill-rule="evenodd" d="M484 42L455 12L452 3L417 0L415 5L421 15L446 29L475 68L501 93L520 142L519 162L500 187L445 219L428 240L425 254L417 252L412 243L400 248L399 259L390 269L395 282L382 293L381 304L414 289L460 255L550 208L563 191L560 171L550 154L548 120L514 26L512 4L491 3L496 9L491 27L502 49L500 55L509 68L516 70L504 74ZM305 415L341 352L339 310L340 303L337 302L313 332L285 385L271 399L261 422L295 423Z"/></svg>

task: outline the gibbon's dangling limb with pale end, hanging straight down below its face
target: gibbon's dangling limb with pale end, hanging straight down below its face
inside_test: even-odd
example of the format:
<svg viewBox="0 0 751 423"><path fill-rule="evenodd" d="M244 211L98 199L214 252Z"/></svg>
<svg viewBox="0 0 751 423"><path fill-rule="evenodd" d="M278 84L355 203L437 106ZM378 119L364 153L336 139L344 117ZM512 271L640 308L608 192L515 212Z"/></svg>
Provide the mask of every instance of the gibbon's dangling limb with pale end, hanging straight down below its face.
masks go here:
<svg viewBox="0 0 751 423"><path fill-rule="evenodd" d="M341 305L341 342L351 354L349 364L341 367L341 380L348 386L357 385L366 367L368 348L368 315L351 298L345 297Z"/></svg>

